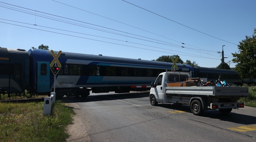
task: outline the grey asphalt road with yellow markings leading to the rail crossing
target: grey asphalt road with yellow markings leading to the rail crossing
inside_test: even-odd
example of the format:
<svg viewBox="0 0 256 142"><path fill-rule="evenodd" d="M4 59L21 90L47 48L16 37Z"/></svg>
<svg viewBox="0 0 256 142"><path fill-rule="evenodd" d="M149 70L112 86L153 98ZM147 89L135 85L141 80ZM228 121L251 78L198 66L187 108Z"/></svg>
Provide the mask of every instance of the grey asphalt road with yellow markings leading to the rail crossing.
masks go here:
<svg viewBox="0 0 256 142"><path fill-rule="evenodd" d="M256 108L218 110L195 116L187 105L151 106L149 93L65 98L76 112L67 141L255 142ZM75 130L74 130L75 129Z"/></svg>

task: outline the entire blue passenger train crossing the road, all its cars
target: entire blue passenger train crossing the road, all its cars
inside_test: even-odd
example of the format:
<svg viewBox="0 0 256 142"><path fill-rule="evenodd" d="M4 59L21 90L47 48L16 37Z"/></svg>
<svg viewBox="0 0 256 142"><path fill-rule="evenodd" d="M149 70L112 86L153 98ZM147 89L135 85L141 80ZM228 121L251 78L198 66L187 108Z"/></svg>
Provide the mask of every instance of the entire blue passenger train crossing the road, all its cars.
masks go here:
<svg viewBox="0 0 256 142"><path fill-rule="evenodd" d="M54 51L57 55L57 51ZM8 97L21 94L49 95L54 88L54 75L50 63L54 57L50 50L9 49L0 47L0 94ZM56 75L57 97L82 96L89 92L149 90L159 73L170 70L173 63L62 52L58 57L61 68ZM193 78L216 80L218 73L227 82L242 83L232 70L191 67L177 64L179 70L191 72Z"/></svg>

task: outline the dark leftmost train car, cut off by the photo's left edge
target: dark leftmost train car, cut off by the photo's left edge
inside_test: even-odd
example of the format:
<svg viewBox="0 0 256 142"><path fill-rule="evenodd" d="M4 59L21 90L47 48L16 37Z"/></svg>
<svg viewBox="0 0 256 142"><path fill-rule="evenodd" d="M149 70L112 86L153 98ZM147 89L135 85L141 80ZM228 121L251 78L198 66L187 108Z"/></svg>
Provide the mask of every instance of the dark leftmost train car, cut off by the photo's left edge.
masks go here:
<svg viewBox="0 0 256 142"><path fill-rule="evenodd" d="M23 93L28 86L28 51L0 48L0 94L16 96Z"/></svg>

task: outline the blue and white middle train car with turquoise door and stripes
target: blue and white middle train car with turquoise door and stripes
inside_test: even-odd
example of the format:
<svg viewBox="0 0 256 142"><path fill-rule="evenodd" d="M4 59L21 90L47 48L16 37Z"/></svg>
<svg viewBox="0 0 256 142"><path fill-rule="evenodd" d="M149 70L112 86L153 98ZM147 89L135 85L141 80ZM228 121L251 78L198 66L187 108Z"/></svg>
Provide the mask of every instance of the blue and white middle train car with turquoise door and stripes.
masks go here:
<svg viewBox="0 0 256 142"><path fill-rule="evenodd" d="M51 51L30 49L32 88L40 93L53 91L54 75L50 63ZM57 55L57 51L54 51ZM170 70L173 63L140 59L62 52L58 57L61 69L56 75L56 94L88 96L89 91L149 90L159 73ZM177 64L179 71L193 71L191 66Z"/></svg>

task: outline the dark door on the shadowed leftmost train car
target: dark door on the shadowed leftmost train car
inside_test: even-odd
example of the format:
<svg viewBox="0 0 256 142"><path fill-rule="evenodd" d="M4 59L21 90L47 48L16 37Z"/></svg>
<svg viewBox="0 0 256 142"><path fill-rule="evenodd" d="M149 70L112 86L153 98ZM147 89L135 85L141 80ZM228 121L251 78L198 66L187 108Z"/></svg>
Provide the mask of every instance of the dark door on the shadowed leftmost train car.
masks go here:
<svg viewBox="0 0 256 142"><path fill-rule="evenodd" d="M9 66L10 93L21 93L24 91L24 60L10 59Z"/></svg>

